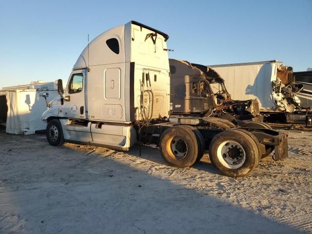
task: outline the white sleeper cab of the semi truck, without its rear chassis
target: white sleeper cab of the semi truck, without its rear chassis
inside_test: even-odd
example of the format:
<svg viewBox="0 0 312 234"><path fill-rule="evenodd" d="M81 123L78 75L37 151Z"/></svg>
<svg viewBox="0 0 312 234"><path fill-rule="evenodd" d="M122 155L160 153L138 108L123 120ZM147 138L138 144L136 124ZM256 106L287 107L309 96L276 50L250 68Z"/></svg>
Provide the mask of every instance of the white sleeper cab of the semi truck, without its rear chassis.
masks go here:
<svg viewBox="0 0 312 234"><path fill-rule="evenodd" d="M59 87L61 105L42 120L60 124L61 141L128 150L135 121L169 117L168 38L136 21L100 34L78 57L63 94ZM57 126L47 134L59 144Z"/></svg>

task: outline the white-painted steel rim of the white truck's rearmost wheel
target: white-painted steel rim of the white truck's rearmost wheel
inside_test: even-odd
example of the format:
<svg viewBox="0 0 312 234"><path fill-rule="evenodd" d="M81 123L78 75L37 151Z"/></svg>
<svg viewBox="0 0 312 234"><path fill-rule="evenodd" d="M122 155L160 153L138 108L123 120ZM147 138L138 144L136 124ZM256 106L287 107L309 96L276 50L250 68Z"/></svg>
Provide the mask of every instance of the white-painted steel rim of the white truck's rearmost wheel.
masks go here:
<svg viewBox="0 0 312 234"><path fill-rule="evenodd" d="M240 168L246 160L244 148L234 140L222 142L216 153L219 162L228 169Z"/></svg>

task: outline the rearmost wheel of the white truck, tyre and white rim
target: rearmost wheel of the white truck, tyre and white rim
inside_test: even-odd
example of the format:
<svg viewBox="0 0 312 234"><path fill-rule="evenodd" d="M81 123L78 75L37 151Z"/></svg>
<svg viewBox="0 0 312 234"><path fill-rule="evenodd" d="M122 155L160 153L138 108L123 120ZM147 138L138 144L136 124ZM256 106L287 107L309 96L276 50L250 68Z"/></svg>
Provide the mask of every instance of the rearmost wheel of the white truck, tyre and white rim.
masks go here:
<svg viewBox="0 0 312 234"><path fill-rule="evenodd" d="M225 176L246 176L259 162L256 142L241 131L227 130L216 135L210 143L209 156Z"/></svg>

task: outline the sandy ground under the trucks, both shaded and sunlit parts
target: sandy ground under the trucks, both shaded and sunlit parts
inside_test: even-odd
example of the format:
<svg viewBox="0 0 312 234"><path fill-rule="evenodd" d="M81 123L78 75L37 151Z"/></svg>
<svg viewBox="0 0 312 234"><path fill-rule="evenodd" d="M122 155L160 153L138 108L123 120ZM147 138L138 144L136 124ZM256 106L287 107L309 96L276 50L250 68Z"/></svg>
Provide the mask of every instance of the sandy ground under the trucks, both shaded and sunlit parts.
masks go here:
<svg viewBox="0 0 312 234"><path fill-rule="evenodd" d="M0 233L312 233L312 132L289 132L289 158L221 176L205 155L167 166L129 152L0 133Z"/></svg>

